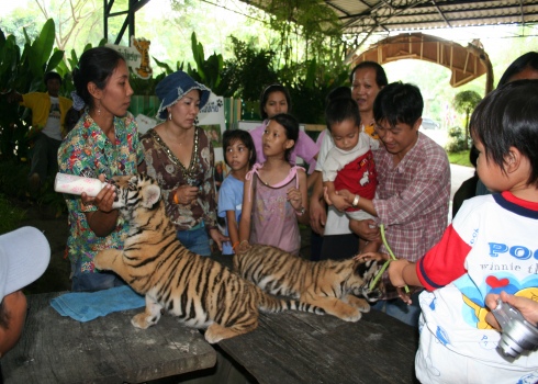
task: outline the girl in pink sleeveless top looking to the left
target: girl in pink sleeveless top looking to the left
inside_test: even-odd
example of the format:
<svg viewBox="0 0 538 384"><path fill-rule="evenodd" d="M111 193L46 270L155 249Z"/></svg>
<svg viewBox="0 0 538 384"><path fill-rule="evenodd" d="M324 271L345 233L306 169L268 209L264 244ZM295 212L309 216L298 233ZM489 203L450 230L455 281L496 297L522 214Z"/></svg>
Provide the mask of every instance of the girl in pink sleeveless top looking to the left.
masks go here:
<svg viewBox="0 0 538 384"><path fill-rule="evenodd" d="M242 245L270 245L299 255L299 223L309 223L309 200L304 169L289 162L298 137L299 123L293 116L282 113L270 118L262 136L266 161L246 176Z"/></svg>

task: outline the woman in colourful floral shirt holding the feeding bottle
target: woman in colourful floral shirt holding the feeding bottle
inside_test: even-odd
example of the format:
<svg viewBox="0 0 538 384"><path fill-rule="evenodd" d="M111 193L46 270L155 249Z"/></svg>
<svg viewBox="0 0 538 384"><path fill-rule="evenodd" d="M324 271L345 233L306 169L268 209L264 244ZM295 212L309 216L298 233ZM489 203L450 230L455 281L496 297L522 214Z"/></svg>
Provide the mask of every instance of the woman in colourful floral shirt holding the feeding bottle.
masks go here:
<svg viewBox="0 0 538 384"><path fill-rule="evenodd" d="M127 113L133 89L125 59L107 47L82 54L72 72L77 94L88 109L58 150L63 173L98 178L134 174L144 160L136 122ZM66 194L70 234L67 253L71 261L72 291L99 291L124 284L111 272L94 269L93 257L102 249L123 248L127 226L112 208L115 189L107 185L88 197Z"/></svg>

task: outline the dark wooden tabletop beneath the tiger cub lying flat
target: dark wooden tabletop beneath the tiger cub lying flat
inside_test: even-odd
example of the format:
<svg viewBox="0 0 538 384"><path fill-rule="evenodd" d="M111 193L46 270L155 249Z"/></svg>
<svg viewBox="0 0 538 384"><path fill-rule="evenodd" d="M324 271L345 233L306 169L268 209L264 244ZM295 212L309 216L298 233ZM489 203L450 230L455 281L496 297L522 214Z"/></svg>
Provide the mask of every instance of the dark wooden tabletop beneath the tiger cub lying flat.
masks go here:
<svg viewBox="0 0 538 384"><path fill-rule="evenodd" d="M258 329L218 346L261 384L415 383L418 331L372 310L357 323L262 314Z"/></svg>

